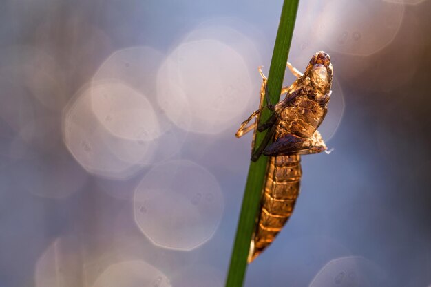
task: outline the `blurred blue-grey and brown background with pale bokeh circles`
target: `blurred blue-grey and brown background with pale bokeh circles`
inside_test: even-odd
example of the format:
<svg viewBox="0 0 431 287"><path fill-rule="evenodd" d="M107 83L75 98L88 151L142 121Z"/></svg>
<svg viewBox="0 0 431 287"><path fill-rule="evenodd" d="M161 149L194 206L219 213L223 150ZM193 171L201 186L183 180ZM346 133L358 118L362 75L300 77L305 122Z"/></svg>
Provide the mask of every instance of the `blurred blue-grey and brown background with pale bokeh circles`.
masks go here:
<svg viewBox="0 0 431 287"><path fill-rule="evenodd" d="M1 6L0 286L223 286L282 1ZM334 151L245 286L431 286L430 12L300 2L289 61L330 54Z"/></svg>

